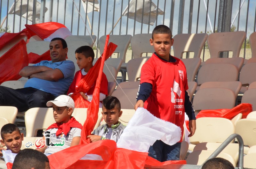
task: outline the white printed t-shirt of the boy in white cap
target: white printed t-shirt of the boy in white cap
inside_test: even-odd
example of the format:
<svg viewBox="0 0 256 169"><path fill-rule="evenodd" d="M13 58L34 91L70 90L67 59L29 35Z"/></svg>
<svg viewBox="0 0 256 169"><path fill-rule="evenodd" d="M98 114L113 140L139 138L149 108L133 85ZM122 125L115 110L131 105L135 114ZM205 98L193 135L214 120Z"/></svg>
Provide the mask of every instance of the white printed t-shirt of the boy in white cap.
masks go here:
<svg viewBox="0 0 256 169"><path fill-rule="evenodd" d="M58 137L56 137L56 132L58 128L52 128L48 129L44 132L44 136L46 132L50 131L50 144L46 150L44 151L44 154L53 154L55 152L61 151L63 149L66 149L70 147L70 144L74 137L81 137L81 129L79 128L71 128L67 134L67 136L60 134ZM48 139L49 137L45 136L45 139Z"/></svg>

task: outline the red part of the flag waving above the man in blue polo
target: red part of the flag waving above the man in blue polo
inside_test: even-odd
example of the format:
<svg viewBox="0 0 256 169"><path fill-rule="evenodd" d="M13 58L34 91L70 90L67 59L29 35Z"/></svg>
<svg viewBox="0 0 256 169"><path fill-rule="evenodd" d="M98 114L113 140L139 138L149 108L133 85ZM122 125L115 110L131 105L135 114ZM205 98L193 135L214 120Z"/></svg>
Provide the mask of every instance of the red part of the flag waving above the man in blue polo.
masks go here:
<svg viewBox="0 0 256 169"><path fill-rule="evenodd" d="M33 24L33 25L25 24L25 27L28 30L29 38L31 36L37 35L41 39L47 38L48 36L50 36L52 33L54 33L60 28L67 28L65 25L60 24L58 22L45 22L45 23Z"/></svg>

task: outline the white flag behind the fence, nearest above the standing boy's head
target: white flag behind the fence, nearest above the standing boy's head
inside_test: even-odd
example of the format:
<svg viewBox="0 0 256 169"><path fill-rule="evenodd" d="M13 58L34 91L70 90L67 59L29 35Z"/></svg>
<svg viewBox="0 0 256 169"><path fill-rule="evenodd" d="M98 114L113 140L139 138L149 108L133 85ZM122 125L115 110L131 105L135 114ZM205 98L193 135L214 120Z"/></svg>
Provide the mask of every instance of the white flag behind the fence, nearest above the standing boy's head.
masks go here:
<svg viewBox="0 0 256 169"><path fill-rule="evenodd" d="M136 16L135 16L135 7L136 7ZM123 16L128 16L127 8L128 6L124 10ZM158 15L164 15L164 12L159 8L157 8L156 4L154 4L151 0L145 0L144 6L143 6L143 0L137 0L137 5L136 5L136 0L130 1L129 18L131 19L134 19L136 17L135 20L140 23L142 22L143 24L148 24L149 22L150 25L154 25L157 17L156 13ZM149 18L149 14L150 14L150 18ZM142 16L143 16L143 20L142 20Z"/></svg>

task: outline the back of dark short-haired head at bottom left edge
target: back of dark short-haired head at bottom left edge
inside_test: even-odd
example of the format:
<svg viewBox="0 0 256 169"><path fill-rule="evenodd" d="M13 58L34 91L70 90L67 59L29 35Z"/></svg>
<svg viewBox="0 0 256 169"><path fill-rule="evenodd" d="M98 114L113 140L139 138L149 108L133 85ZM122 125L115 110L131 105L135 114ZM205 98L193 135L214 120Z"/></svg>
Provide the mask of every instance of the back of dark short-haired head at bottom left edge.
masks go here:
<svg viewBox="0 0 256 169"><path fill-rule="evenodd" d="M45 169L45 163L49 163L47 156L34 149L23 149L14 158L12 169Z"/></svg>

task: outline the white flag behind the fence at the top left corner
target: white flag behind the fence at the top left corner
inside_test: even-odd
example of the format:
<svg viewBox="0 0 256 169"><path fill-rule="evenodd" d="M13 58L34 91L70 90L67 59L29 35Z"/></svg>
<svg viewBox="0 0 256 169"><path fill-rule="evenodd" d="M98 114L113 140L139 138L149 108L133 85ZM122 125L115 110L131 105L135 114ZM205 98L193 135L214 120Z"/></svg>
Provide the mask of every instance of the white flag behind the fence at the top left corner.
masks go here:
<svg viewBox="0 0 256 169"><path fill-rule="evenodd" d="M27 4L28 2L28 4ZM28 6L28 11L27 11ZM44 12L46 12L48 9L44 7ZM27 12L28 12L28 20L32 22L33 20L33 0L23 0L22 4L20 0L16 0L16 6L15 6L15 14L20 16L21 11L21 17L27 18ZM40 11L41 11L41 4L36 1L36 24L40 23ZM10 8L8 14L14 14L14 3L12 4L12 7Z"/></svg>

